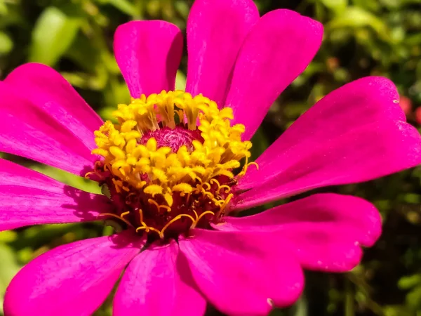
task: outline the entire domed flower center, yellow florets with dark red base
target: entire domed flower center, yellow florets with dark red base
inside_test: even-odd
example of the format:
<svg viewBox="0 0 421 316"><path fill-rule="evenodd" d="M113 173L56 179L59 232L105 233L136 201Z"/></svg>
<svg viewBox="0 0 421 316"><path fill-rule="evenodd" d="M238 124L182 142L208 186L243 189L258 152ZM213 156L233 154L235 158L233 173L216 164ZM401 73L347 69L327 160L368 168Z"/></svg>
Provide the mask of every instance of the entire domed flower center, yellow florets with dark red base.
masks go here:
<svg viewBox="0 0 421 316"><path fill-rule="evenodd" d="M152 239L218 223L232 186L255 164L248 163L251 143L241 140L245 127L231 126L232 109L219 110L201 95L162 91L119 105L113 115L118 124L106 121L95 131L93 154L102 158L93 173L115 206L101 216Z"/></svg>

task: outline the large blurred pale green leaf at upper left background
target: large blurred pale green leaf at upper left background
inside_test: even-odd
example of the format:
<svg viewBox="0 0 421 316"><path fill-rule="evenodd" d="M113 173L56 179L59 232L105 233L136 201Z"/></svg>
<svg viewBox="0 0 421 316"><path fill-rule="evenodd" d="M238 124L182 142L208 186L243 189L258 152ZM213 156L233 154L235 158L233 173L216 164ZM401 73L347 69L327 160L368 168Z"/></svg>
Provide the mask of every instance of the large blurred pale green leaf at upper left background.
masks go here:
<svg viewBox="0 0 421 316"><path fill-rule="evenodd" d="M29 60L55 65L74 41L81 26L79 18L49 6L39 16L32 31Z"/></svg>

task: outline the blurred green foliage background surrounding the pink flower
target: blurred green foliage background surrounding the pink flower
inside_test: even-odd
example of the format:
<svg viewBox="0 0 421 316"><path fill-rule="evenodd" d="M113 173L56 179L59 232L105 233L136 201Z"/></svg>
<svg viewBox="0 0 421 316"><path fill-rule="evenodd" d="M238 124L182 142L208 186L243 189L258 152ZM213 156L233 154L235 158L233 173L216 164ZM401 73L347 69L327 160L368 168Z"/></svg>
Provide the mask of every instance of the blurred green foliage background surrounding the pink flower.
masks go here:
<svg viewBox="0 0 421 316"><path fill-rule="evenodd" d="M316 100L369 74L392 79L408 120L421 124L421 0L255 2L261 13L290 8L323 22L325 37L312 64L272 106L255 136L254 157ZM185 29L191 5L192 0L0 0L0 78L24 62L51 65L107 119L117 103L129 98L112 53L116 27L128 20L163 19ZM183 58L179 88L185 85L186 63ZM14 159L69 185L98 192L92 183L69 173ZM273 314L421 315L420 188L421 169L329 188L374 202L384 218L384 234L352 272L307 273L300 301ZM59 244L111 232L101 223L1 232L0 301L13 275L35 256ZM95 315L111 315L111 303L110 297Z"/></svg>

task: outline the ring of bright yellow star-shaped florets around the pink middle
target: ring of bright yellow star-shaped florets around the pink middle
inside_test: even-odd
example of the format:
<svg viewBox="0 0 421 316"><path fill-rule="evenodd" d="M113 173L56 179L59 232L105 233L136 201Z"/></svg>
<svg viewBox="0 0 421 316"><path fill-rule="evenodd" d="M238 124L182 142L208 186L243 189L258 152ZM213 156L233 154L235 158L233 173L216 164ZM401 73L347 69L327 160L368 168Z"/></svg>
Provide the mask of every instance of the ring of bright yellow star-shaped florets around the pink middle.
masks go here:
<svg viewBox="0 0 421 316"><path fill-rule="evenodd" d="M232 109L219 110L215 102L201 95L192 97L184 91L142 95L129 105L119 105L113 116L119 124L106 121L95 131L98 148L93 154L104 157L104 169L116 177L117 192L134 188L152 197L162 195L171 207L175 192L206 194L206 183L212 184L212 179L234 178L232 170L241 166L241 159L246 159L246 164L240 173L248 166L251 143L241 140L244 126L231 126ZM155 138L140 144L148 131L176 126L199 129L203 143L193 140L191 148L183 145L177 152L158 147Z"/></svg>

